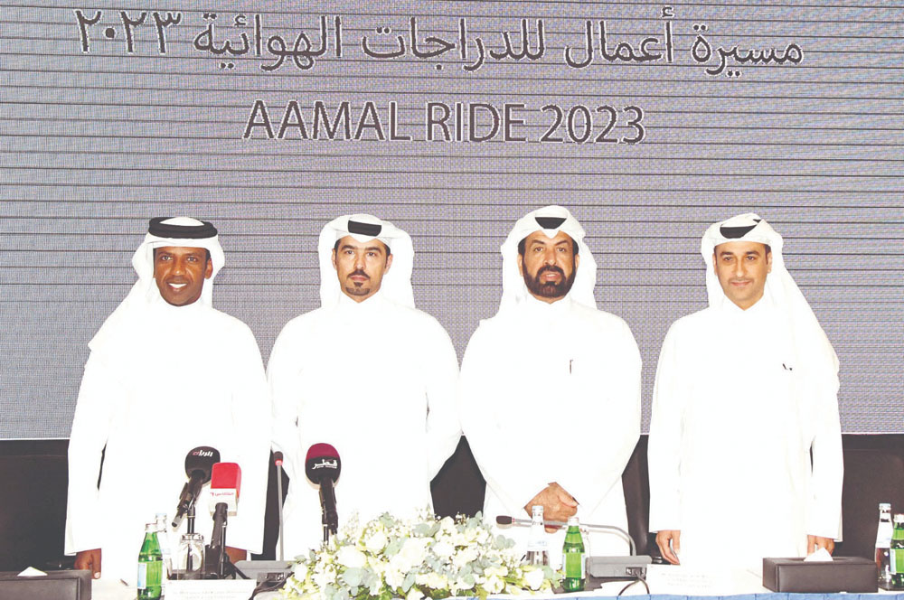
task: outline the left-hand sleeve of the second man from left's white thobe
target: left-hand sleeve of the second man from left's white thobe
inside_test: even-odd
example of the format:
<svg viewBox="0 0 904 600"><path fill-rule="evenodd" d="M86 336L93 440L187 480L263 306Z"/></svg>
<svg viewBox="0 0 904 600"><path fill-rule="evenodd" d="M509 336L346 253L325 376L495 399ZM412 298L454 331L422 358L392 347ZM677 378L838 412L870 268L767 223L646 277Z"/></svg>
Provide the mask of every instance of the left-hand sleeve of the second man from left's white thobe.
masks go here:
<svg viewBox="0 0 904 600"><path fill-rule="evenodd" d="M273 451L283 454L283 469L292 482L297 482L296 473L304 473L298 441L298 389L297 372L301 360L294 349L294 330L290 325L279 333L267 365L267 380L270 393L271 427Z"/></svg>

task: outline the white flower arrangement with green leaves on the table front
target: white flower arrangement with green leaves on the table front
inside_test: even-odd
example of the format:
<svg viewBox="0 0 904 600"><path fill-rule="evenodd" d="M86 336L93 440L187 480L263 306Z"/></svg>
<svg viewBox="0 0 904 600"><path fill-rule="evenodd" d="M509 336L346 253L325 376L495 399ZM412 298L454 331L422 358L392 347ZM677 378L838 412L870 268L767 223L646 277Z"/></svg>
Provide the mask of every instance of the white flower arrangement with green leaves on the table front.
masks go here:
<svg viewBox="0 0 904 600"><path fill-rule="evenodd" d="M494 535L476 517L411 520L389 514L359 526L356 519L330 543L299 559L283 587L286 598L422 600L449 596L551 592L561 575L527 565L512 539Z"/></svg>

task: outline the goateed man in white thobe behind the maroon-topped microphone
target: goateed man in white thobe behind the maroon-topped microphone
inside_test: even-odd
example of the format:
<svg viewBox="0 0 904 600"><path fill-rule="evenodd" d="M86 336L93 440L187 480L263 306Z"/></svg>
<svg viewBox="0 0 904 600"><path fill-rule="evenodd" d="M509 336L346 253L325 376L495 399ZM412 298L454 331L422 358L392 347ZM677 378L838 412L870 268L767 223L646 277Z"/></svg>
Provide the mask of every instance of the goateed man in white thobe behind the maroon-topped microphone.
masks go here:
<svg viewBox="0 0 904 600"><path fill-rule="evenodd" d="M311 445L333 445L339 526L432 506L430 481L461 436L458 361L446 330L414 307L407 233L371 215L343 216L320 234L321 307L279 333L268 364L273 445L290 478L287 557L323 541Z"/></svg>

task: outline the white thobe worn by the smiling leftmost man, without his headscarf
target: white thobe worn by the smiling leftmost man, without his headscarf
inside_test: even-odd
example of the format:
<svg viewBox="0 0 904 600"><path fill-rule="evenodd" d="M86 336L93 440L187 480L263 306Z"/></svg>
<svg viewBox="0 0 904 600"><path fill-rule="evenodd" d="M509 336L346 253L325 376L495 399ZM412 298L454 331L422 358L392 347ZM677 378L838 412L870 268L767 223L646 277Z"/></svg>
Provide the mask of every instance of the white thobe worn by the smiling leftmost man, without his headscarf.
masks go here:
<svg viewBox="0 0 904 600"><path fill-rule="evenodd" d="M100 548L101 576L132 584L145 523L158 512L173 520L194 447L213 446L240 465L229 546L260 552L267 495L267 385L254 335L200 302L154 310L165 318L146 331L152 338L135 340L134 354L89 356L69 444L66 553ZM209 543L207 490L196 531ZM174 545L186 525L171 534Z"/></svg>

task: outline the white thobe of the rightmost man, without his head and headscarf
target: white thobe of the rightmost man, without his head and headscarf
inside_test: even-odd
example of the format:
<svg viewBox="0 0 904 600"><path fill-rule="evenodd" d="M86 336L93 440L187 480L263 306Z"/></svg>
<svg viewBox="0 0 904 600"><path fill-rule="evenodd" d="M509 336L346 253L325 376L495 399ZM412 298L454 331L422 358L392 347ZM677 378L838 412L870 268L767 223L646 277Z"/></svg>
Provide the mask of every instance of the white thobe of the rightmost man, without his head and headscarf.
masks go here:
<svg viewBox="0 0 904 600"><path fill-rule="evenodd" d="M673 324L650 423L650 530L681 530L683 565L758 568L840 539L842 446L833 376L796 360L766 301ZM813 468L810 464L811 446Z"/></svg>

